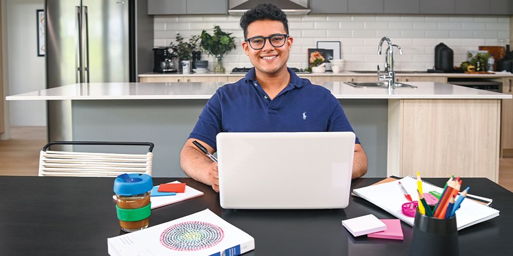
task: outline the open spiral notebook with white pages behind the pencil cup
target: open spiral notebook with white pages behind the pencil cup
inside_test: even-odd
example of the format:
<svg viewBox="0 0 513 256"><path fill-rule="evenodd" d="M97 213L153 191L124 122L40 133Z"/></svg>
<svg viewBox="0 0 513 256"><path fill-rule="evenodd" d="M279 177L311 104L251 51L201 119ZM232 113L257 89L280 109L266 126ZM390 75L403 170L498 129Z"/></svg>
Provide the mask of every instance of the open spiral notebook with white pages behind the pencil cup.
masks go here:
<svg viewBox="0 0 513 256"><path fill-rule="evenodd" d="M419 196L416 193L417 179L411 176L392 182L353 189L353 194L377 205L389 214L413 226L413 220L415 218L405 216L401 212L401 205L407 203L407 200L404 198L404 194L399 188L399 181L401 181L403 186L406 188L406 191L408 191L408 194L410 194L414 201L419 200ZM442 193L443 191L443 188L431 183L425 181L422 181L422 183L423 191L437 191L439 193ZM482 205L478 202L465 199L463 200L460 209L456 211L456 223L458 230L461 230L473 224L493 219L497 216L499 216L498 210Z"/></svg>

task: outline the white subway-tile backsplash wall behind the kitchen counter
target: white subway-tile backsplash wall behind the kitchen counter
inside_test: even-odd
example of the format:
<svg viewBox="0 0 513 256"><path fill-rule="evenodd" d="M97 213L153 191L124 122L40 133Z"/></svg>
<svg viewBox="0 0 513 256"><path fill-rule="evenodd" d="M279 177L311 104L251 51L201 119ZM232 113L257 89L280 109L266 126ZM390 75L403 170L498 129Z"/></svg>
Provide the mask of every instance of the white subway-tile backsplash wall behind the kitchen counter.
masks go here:
<svg viewBox="0 0 513 256"><path fill-rule="evenodd" d="M154 45L168 45L178 32L185 38L201 34L203 29L211 32L215 24L236 36L237 48L223 59L225 68L251 67L240 47L243 39L240 18L155 15ZM345 70L376 70L376 65L384 62L384 56L377 55L379 40L388 36L403 48L404 55L394 54L396 70L419 71L433 67L433 54L439 42L452 48L454 63L459 65L466 60L467 50L478 50L481 45L505 45L509 38L508 16L289 15L288 20L289 33L295 39L288 66L295 68L307 67L307 49L315 48L317 41L341 41ZM211 65L209 68L212 69Z"/></svg>

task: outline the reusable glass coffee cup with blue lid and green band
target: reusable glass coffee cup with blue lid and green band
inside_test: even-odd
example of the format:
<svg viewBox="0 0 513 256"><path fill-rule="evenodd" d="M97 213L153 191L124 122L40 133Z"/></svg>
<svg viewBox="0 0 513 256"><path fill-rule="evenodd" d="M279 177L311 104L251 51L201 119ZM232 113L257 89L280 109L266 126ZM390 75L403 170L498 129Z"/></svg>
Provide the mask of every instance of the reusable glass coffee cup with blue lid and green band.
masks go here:
<svg viewBox="0 0 513 256"><path fill-rule="evenodd" d="M153 181L147 174L122 174L116 177L114 193L121 230L132 232L148 227L152 188Z"/></svg>

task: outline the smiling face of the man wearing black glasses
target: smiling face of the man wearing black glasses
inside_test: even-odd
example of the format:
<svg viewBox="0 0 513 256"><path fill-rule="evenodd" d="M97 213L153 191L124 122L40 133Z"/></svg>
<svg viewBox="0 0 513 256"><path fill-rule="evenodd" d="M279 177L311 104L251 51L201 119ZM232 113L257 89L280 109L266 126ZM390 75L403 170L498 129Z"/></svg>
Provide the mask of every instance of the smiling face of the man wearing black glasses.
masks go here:
<svg viewBox="0 0 513 256"><path fill-rule="evenodd" d="M247 32L247 38L287 33L281 22L267 19L252 22L249 24ZM264 48L259 50L251 48L249 43L244 41L242 42L242 48L246 55L249 56L249 61L251 61L255 69L262 73L275 74L284 68L286 69L292 41L292 37L287 37L282 47L273 47L269 39L266 38Z"/></svg>

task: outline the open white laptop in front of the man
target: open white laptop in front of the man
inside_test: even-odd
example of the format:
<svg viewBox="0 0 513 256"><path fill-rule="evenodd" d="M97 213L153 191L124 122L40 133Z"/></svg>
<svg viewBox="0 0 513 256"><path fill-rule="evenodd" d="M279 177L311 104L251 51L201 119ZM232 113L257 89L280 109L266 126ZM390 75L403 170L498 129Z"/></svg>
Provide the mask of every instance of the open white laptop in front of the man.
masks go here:
<svg viewBox="0 0 513 256"><path fill-rule="evenodd" d="M352 132L218 134L221 207L345 208L354 139Z"/></svg>

